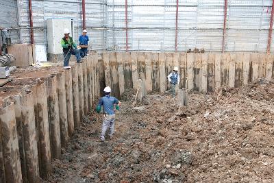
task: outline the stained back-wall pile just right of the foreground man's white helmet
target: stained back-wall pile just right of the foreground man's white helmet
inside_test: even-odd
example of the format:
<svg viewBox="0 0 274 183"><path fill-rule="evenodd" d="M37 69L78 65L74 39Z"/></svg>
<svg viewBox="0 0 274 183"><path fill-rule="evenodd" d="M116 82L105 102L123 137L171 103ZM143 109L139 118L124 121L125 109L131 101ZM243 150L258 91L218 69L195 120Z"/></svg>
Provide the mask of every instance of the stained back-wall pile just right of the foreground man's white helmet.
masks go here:
<svg viewBox="0 0 274 183"><path fill-rule="evenodd" d="M111 83L112 83L112 95L116 98L120 98L119 79L118 79L118 65L116 59L116 53L110 53L110 69L111 69Z"/></svg>

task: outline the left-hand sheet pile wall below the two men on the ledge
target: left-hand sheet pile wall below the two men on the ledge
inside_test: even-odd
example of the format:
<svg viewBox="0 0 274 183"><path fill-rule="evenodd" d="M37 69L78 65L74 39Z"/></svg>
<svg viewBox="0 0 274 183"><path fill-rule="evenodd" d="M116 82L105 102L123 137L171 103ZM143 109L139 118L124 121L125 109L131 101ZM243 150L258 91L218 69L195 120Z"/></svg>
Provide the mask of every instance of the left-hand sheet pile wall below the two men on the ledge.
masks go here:
<svg viewBox="0 0 274 183"><path fill-rule="evenodd" d="M75 88L84 88L88 94L88 102L82 103L85 114L94 108L90 102L97 103L97 62L97 53L92 53L72 71L60 69L49 71L48 75L37 71L36 77L21 75L1 87L0 182L40 182L40 178L48 177L51 160L61 158L61 147L66 147L75 128L81 125L79 95L73 95ZM77 69L83 65L84 70ZM71 77L75 71L88 76L85 82Z"/></svg>

